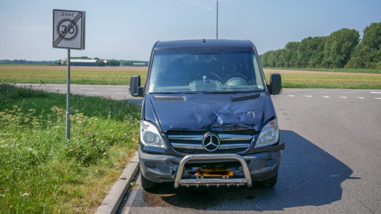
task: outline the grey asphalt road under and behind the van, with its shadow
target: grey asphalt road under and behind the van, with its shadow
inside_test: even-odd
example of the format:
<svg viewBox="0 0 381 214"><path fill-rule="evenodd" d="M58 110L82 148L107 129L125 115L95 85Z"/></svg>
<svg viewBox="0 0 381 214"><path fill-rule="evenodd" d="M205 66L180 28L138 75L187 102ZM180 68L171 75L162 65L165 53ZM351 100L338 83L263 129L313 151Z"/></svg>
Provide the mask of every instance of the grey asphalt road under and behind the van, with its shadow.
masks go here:
<svg viewBox="0 0 381 214"><path fill-rule="evenodd" d="M113 88L127 92L71 87L131 99ZM123 213L381 213L381 90L284 89L272 99L286 143L274 188L163 185L147 192L139 185Z"/></svg>

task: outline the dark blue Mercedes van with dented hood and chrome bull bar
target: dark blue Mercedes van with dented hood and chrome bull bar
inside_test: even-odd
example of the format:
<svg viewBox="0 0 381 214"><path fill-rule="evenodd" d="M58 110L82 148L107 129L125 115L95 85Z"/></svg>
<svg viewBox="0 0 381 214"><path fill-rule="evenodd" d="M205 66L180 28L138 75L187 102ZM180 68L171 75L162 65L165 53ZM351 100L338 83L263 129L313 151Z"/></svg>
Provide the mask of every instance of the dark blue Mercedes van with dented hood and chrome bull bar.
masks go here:
<svg viewBox="0 0 381 214"><path fill-rule="evenodd" d="M248 40L157 42L145 86L132 76L130 93L143 97L139 161L142 187L259 186L277 181L284 143L254 44Z"/></svg>

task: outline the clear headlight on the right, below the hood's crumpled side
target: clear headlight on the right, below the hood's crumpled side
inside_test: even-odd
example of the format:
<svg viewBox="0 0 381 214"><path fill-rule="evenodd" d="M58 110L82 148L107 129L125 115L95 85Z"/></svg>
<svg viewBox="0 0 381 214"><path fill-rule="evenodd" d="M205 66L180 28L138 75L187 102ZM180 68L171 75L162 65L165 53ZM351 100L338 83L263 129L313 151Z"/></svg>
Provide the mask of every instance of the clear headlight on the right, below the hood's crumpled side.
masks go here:
<svg viewBox="0 0 381 214"><path fill-rule="evenodd" d="M256 140L255 148L275 144L279 140L278 119L273 119L263 126Z"/></svg>

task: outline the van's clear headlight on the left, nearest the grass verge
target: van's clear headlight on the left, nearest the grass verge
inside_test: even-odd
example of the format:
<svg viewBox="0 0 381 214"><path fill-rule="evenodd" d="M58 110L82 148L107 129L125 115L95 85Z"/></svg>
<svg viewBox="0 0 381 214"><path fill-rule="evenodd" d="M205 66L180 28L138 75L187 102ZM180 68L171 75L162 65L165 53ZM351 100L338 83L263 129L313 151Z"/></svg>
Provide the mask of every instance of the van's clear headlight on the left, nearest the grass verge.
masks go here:
<svg viewBox="0 0 381 214"><path fill-rule="evenodd" d="M145 146L167 148L156 126L144 120L140 120L140 141Z"/></svg>

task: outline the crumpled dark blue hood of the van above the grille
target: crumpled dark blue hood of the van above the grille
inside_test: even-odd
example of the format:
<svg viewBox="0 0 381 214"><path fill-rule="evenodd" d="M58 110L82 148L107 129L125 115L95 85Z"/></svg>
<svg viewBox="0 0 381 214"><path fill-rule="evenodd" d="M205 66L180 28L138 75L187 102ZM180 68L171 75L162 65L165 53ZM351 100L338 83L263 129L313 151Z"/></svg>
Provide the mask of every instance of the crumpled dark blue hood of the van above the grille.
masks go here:
<svg viewBox="0 0 381 214"><path fill-rule="evenodd" d="M275 115L270 97L231 103L231 97L250 94L146 94L144 117L162 129L225 131L237 129L259 130L266 104L271 103L268 116ZM186 101L159 101L160 97L185 97ZM264 118L266 119L266 118Z"/></svg>

